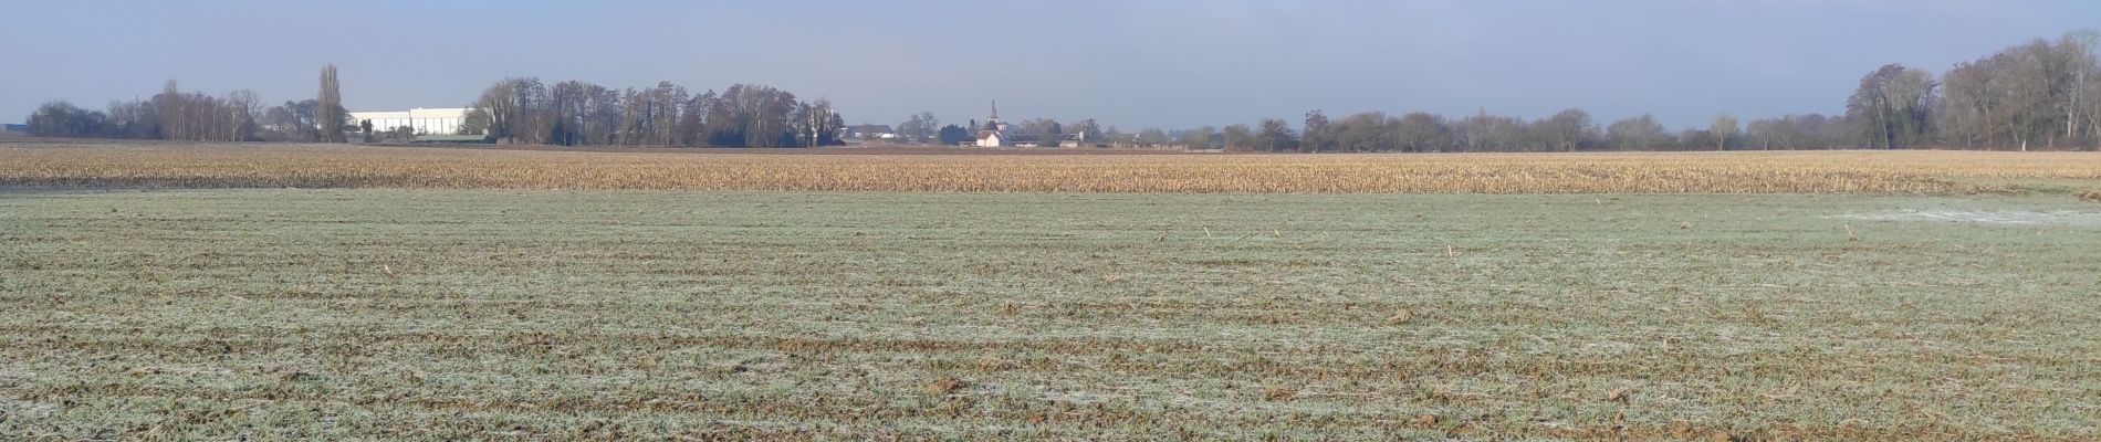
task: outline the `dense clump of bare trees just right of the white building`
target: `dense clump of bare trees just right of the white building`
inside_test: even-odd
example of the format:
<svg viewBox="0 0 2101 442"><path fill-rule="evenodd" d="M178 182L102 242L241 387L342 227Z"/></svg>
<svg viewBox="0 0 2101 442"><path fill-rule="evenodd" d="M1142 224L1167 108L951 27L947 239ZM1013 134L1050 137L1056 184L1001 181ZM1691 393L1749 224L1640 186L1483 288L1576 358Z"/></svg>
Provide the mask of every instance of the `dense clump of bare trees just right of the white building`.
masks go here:
<svg viewBox="0 0 2101 442"><path fill-rule="evenodd" d="M845 126L830 101L803 103L786 90L756 84L691 94L670 82L613 90L588 82L548 88L538 78L506 78L469 105L460 134L571 147L826 147L840 145Z"/></svg>

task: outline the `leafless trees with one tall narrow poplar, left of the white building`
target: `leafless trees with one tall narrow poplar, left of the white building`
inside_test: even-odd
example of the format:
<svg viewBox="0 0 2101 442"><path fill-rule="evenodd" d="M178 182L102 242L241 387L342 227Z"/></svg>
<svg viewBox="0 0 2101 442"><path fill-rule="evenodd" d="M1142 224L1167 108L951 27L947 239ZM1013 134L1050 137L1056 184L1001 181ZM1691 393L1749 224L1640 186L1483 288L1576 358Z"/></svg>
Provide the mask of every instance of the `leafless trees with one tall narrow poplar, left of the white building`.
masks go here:
<svg viewBox="0 0 2101 442"><path fill-rule="evenodd" d="M336 90L336 67L321 69L321 94L263 107L254 90L223 96L181 92L174 80L145 101L109 103L107 111L53 101L29 113L29 134L137 140L279 140L342 142L351 126ZM326 103L326 105L324 105ZM328 136L334 134L334 136Z"/></svg>

